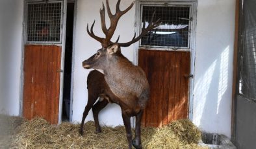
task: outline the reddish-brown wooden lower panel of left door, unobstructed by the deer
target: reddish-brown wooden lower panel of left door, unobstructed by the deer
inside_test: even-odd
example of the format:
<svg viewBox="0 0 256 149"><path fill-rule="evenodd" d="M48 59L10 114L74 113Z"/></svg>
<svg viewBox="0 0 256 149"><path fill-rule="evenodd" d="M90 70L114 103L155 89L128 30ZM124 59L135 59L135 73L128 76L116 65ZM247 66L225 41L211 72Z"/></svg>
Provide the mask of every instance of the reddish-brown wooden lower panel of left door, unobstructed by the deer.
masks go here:
<svg viewBox="0 0 256 149"><path fill-rule="evenodd" d="M58 123L61 47L25 45L23 117Z"/></svg>

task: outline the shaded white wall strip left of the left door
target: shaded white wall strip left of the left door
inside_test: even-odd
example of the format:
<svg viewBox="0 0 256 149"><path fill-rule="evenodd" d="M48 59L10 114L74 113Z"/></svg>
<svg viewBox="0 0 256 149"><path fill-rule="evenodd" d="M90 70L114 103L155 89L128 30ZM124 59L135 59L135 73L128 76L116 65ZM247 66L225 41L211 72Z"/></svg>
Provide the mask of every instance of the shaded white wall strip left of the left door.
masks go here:
<svg viewBox="0 0 256 149"><path fill-rule="evenodd" d="M19 115L23 1L0 1L0 113Z"/></svg>

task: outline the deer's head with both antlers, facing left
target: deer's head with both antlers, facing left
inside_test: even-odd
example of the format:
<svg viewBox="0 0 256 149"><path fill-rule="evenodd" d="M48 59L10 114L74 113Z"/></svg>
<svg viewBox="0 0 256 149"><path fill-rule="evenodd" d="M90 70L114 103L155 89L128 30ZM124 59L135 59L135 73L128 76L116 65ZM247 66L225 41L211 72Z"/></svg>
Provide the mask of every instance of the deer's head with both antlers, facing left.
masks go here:
<svg viewBox="0 0 256 149"><path fill-rule="evenodd" d="M114 58L116 56L122 56L122 53L120 51L120 47L129 47L131 44L135 43L136 41L140 40L149 30L158 27L160 25L160 19L155 21L153 23L153 17L155 15L155 12L153 13L151 17L151 21L149 22L149 25L145 27L145 22L143 23L143 28L141 34L136 37L136 34L134 34L133 39L126 43L118 43L118 40L120 36L118 36L118 39L115 42L111 41L111 38L114 34L114 31L116 30L116 26L118 24L118 20L120 19L123 14L128 12L134 5L131 3L131 5L126 8L125 10L120 10L120 0L118 0L118 3L116 4L116 14L112 14L109 7L109 0L106 0L107 4L107 13L110 18L110 27L107 29L106 22L105 22L105 6L103 3L103 8L100 9L100 16L101 16L101 29L103 30L103 33L105 34L105 38L100 38L94 34L93 28L94 23L92 23L92 27L88 28L87 24L87 32L88 34L94 38L95 40L99 41L101 43L102 48L97 50L96 54L88 58L88 60L84 60L83 67L85 69L103 69L108 65L109 61L114 61Z"/></svg>

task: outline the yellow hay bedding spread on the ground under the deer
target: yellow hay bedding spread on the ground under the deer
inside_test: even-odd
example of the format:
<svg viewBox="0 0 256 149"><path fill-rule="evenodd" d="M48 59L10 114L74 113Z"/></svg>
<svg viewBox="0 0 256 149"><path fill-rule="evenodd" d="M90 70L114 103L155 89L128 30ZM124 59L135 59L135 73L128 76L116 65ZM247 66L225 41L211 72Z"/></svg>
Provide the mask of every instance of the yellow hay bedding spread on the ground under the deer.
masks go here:
<svg viewBox="0 0 256 149"><path fill-rule="evenodd" d="M10 148L127 148L123 126L103 126L102 133L96 134L94 122L86 122L81 137L79 124L51 125L41 118L21 121L16 132L10 135ZM142 128L142 145L148 149L202 148L197 145L200 137L198 128L189 120L177 120L162 128Z"/></svg>

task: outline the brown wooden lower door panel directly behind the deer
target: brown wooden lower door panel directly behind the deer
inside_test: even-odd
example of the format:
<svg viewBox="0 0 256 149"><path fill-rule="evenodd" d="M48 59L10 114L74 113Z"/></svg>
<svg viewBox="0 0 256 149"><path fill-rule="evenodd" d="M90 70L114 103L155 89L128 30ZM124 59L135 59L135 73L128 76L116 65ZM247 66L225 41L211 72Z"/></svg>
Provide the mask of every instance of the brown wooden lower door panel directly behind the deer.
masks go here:
<svg viewBox="0 0 256 149"><path fill-rule="evenodd" d="M140 49L138 65L144 69L150 86L142 125L157 127L187 119L190 52Z"/></svg>

